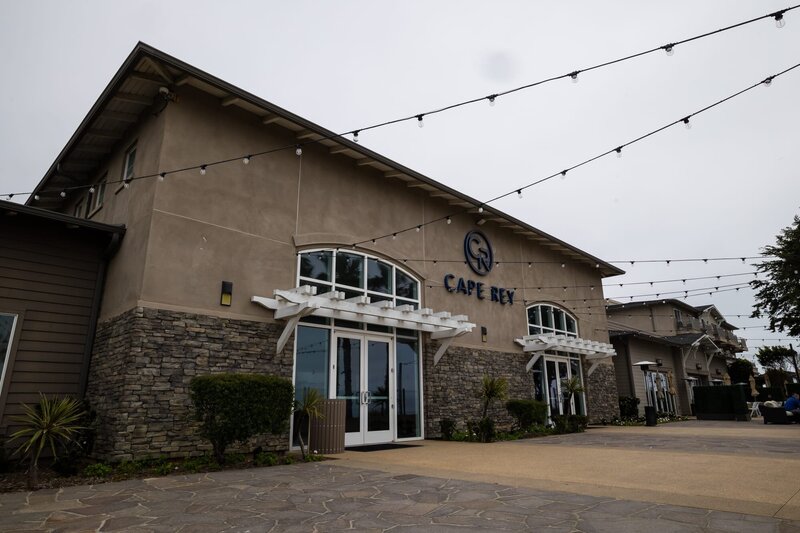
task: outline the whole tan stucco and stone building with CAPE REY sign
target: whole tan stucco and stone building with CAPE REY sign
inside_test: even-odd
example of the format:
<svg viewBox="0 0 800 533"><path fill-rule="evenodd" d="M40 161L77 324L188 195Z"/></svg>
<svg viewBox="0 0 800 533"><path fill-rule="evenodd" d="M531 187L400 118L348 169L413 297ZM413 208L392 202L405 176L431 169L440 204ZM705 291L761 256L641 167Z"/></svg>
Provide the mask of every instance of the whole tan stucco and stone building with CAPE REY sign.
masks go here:
<svg viewBox="0 0 800 533"><path fill-rule="evenodd" d="M127 228L88 378L105 457L196 452L188 384L223 371L346 399L351 446L478 418L484 374L553 413L576 376L566 408L618 414L577 304L621 270L147 45L28 203Z"/></svg>

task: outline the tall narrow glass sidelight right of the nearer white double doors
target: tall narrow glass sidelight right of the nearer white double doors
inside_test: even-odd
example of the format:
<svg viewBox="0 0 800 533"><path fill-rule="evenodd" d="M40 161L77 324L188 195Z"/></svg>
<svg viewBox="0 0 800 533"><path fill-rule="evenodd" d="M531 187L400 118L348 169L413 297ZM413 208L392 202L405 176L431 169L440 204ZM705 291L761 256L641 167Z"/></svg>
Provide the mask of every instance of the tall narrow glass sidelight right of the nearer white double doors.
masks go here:
<svg viewBox="0 0 800 533"><path fill-rule="evenodd" d="M397 339L397 437L421 435L419 346L416 340Z"/></svg>

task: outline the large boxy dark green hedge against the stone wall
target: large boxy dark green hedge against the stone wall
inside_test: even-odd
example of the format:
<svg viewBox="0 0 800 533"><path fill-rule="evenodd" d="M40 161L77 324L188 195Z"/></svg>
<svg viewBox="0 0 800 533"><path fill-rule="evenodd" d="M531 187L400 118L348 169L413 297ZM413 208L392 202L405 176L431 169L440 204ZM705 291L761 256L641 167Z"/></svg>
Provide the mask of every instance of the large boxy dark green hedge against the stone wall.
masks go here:
<svg viewBox="0 0 800 533"><path fill-rule="evenodd" d="M289 422L294 388L288 379L257 374L197 376L190 385L200 435L219 464L225 449L263 433L281 433Z"/></svg>

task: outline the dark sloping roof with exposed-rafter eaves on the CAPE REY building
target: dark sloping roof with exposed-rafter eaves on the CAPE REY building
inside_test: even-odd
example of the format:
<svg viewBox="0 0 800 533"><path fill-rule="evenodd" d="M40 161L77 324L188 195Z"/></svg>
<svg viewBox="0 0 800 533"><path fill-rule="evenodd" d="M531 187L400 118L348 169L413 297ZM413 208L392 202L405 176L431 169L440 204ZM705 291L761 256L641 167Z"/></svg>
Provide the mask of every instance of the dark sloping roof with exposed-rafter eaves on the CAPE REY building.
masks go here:
<svg viewBox="0 0 800 533"><path fill-rule="evenodd" d="M262 118L264 124L277 124L295 132L300 142L318 142L342 154L418 187L457 208L483 208L483 217L544 247L553 249L569 260L599 269L602 277L624 274L610 263L584 252L552 235L522 222L483 202L451 189L408 167L368 148L338 136L334 132L263 100L230 83L184 63L156 48L139 42L101 93L86 117L72 134L45 173L26 204L44 209L57 209L58 194L68 187L88 185L99 165L125 137L126 131L141 115L159 103L159 91L191 85L220 99L222 106L237 106ZM157 108L156 108L157 110ZM38 195L37 200L34 195Z"/></svg>

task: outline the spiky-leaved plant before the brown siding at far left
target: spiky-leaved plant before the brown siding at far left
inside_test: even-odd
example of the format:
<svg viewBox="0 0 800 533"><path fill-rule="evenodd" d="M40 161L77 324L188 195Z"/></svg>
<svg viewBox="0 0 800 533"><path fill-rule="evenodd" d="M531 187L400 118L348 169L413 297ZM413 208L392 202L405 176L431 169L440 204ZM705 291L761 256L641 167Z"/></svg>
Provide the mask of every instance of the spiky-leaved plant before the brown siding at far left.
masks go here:
<svg viewBox="0 0 800 533"><path fill-rule="evenodd" d="M84 429L80 425L85 414L81 403L74 398L48 398L40 394L39 403L30 406L23 404L24 415L12 417L22 428L11 435L11 440L24 439L15 453L30 462L28 467L28 488L34 489L39 483L39 457L45 449L50 449L54 458L61 447L73 441Z"/></svg>

